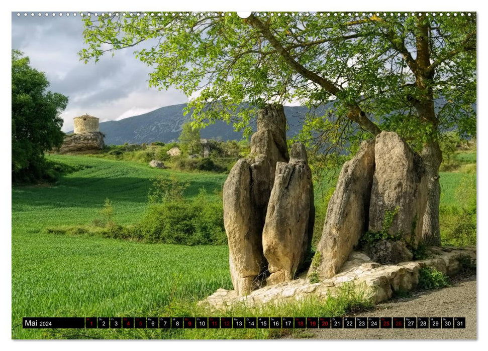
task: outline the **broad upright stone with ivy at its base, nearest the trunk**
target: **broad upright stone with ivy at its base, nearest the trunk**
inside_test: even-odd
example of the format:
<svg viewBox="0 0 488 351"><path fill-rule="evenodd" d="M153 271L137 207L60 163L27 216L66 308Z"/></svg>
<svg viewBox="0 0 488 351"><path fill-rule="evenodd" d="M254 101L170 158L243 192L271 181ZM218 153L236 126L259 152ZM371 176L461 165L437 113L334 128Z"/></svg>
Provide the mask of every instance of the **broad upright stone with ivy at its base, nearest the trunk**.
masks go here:
<svg viewBox="0 0 488 351"><path fill-rule="evenodd" d="M400 235L416 247L427 200L422 158L397 133L383 131L376 136L374 159L369 230L382 231L385 215L396 212L388 233Z"/></svg>

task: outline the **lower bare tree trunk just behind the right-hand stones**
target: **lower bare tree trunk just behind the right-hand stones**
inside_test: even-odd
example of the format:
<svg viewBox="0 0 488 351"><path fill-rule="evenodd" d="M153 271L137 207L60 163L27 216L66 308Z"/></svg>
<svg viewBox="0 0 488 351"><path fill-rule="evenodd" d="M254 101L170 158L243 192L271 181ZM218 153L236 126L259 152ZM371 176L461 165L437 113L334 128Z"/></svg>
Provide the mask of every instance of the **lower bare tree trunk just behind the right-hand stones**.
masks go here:
<svg viewBox="0 0 488 351"><path fill-rule="evenodd" d="M424 214L422 241L429 246L441 246L439 230L439 202L441 187L439 184L439 166L442 152L437 141L428 141L422 149L422 158L427 174L427 205Z"/></svg>

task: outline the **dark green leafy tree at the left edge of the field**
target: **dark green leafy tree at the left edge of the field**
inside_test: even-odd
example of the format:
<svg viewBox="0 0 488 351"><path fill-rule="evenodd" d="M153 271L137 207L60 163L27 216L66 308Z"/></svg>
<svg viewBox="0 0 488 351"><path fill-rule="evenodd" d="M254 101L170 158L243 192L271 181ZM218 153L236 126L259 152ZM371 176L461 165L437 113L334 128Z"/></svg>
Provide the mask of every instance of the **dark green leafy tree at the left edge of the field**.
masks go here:
<svg viewBox="0 0 488 351"><path fill-rule="evenodd" d="M46 91L44 73L12 50L12 181L38 181L45 175L44 152L60 146L61 111L68 98Z"/></svg>

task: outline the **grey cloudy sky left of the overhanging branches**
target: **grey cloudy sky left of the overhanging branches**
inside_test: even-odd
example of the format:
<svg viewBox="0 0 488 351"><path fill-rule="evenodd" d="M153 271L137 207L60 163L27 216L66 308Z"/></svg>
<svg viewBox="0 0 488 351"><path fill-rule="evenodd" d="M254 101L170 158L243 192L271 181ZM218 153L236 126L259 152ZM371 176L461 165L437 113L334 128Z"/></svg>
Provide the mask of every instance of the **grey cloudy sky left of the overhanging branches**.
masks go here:
<svg viewBox="0 0 488 351"><path fill-rule="evenodd" d="M66 14L66 13L64 13ZM50 90L69 98L62 113L62 130L73 128L73 118L84 113L101 121L117 120L156 108L188 102L175 90L149 88L144 63L134 57L134 49L104 56L99 62L84 64L77 52L84 47L80 16L20 17L12 13L12 49L29 56L31 66L44 72Z"/></svg>

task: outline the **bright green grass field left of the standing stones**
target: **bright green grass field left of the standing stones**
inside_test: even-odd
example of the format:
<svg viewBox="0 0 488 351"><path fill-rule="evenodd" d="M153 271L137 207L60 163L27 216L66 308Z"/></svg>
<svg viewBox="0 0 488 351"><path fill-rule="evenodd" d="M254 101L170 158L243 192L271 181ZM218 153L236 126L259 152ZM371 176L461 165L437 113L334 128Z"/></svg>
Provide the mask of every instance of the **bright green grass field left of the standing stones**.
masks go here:
<svg viewBox="0 0 488 351"><path fill-rule="evenodd" d="M151 179L162 174L189 181L185 197L197 196L199 189L205 188L217 200L226 174L183 173L149 168L145 163L90 156L50 155L48 159L78 170L66 174L53 186L12 189L13 338L82 337L22 329L23 316L169 315L174 308L183 306L184 310L184 306L193 306L218 288L232 287L227 246L147 244L45 231L47 227L90 224L100 217L106 198L113 203L117 223L135 223L146 209ZM462 173L441 174L441 205L455 204L453 193L462 177ZM165 310L168 305L173 309ZM251 334L206 331L186 336L272 335L262 331ZM154 334L97 330L90 331L88 337L185 336L161 331Z"/></svg>

